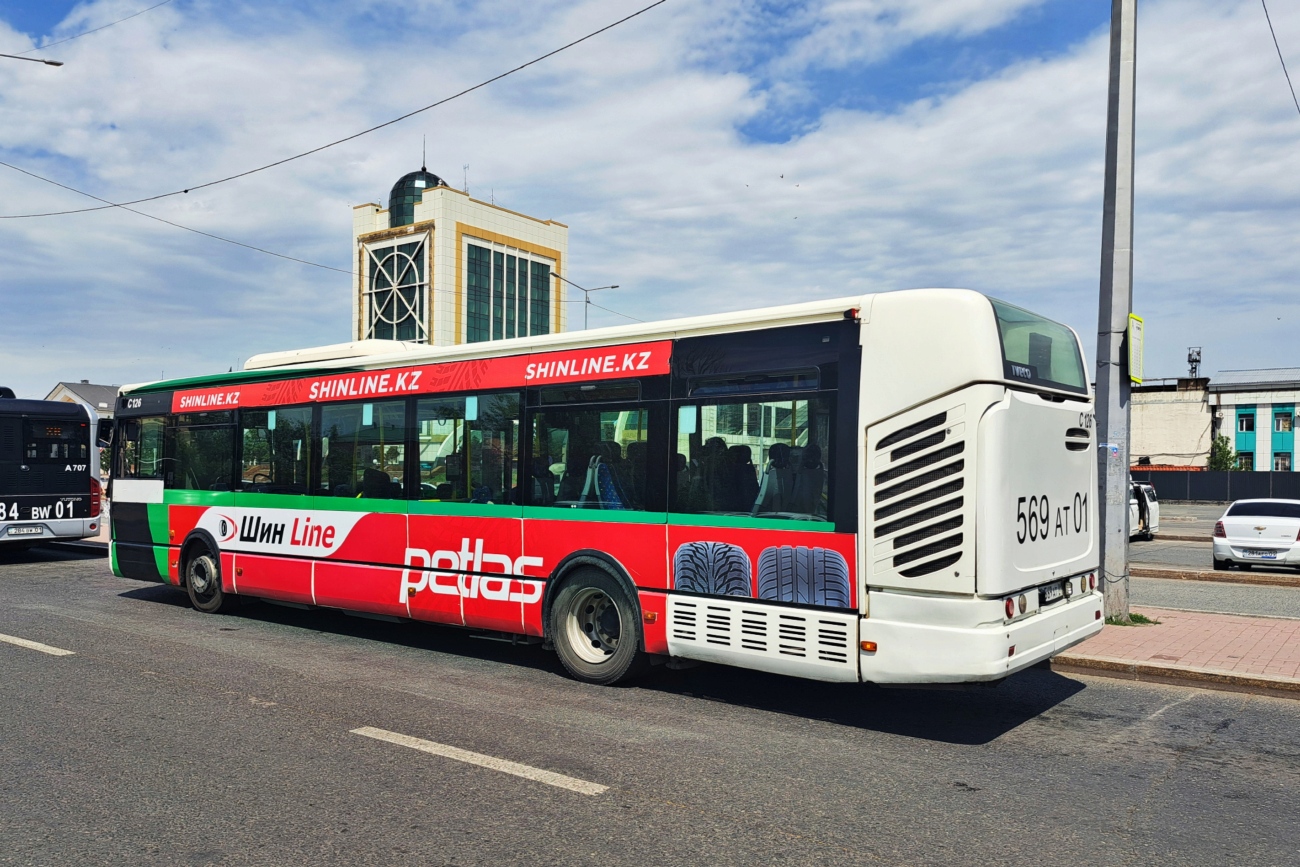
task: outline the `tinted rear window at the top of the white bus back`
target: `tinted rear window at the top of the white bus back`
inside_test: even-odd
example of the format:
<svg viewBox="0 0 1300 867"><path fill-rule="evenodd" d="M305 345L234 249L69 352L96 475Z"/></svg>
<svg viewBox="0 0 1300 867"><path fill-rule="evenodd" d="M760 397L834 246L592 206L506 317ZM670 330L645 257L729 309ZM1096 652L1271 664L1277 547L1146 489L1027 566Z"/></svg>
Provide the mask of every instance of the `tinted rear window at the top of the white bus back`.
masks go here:
<svg viewBox="0 0 1300 867"><path fill-rule="evenodd" d="M989 299L1002 341L1002 370L1008 380L1088 393L1083 357L1074 331L1019 307Z"/></svg>

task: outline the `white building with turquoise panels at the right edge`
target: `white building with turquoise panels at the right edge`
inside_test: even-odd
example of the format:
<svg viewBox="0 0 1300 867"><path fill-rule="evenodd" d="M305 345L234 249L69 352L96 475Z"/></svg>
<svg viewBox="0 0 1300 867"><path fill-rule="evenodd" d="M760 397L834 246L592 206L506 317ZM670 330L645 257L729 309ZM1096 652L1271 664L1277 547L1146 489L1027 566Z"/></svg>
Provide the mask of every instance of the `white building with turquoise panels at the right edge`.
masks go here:
<svg viewBox="0 0 1300 867"><path fill-rule="evenodd" d="M1217 429L1240 469L1295 472L1300 368L1222 370L1209 385Z"/></svg>

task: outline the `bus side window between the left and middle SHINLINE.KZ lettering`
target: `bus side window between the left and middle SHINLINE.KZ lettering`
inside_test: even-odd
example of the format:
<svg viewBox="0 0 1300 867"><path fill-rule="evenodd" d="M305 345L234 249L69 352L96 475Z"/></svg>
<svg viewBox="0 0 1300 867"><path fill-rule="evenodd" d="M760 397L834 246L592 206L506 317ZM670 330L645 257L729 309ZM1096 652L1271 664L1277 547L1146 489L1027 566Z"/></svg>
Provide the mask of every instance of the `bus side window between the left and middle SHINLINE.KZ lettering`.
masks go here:
<svg viewBox="0 0 1300 867"><path fill-rule="evenodd" d="M243 409L239 420L243 442L239 490L311 493L312 408Z"/></svg>

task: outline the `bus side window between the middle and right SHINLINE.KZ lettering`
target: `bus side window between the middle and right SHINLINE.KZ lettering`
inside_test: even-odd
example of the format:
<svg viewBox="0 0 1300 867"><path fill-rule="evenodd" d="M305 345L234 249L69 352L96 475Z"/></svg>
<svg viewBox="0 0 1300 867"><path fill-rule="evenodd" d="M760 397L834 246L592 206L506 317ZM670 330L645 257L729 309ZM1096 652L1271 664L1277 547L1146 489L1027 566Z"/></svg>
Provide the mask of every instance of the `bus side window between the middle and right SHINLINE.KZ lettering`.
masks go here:
<svg viewBox="0 0 1300 867"><path fill-rule="evenodd" d="M517 394L429 398L417 420L420 499L519 502Z"/></svg>

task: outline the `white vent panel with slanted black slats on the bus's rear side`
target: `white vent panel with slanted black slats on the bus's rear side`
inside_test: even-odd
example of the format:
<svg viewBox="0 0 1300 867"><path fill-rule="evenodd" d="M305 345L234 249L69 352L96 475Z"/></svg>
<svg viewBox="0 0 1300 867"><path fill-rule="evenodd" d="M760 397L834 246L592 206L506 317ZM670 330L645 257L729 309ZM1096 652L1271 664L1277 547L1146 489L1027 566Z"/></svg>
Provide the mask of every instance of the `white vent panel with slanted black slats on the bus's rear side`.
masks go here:
<svg viewBox="0 0 1300 867"><path fill-rule="evenodd" d="M868 430L868 503L872 504L874 552L868 584L910 585L958 564L966 555L974 526L970 510L968 455L965 406L924 417L906 416L883 422L879 441ZM889 432L890 425L901 425ZM952 577L952 572L948 573ZM924 586L924 582L920 585Z"/></svg>

